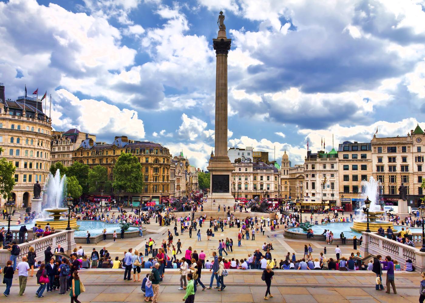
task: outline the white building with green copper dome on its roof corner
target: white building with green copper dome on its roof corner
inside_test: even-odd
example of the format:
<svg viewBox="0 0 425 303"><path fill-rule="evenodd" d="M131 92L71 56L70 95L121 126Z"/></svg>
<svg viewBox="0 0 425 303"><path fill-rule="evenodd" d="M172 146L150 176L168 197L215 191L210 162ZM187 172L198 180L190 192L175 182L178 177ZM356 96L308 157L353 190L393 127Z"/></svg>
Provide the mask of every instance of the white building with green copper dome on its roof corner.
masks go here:
<svg viewBox="0 0 425 303"><path fill-rule="evenodd" d="M307 152L304 160L306 202L328 202L340 205L338 194L338 152L332 149L329 153L318 151Z"/></svg>

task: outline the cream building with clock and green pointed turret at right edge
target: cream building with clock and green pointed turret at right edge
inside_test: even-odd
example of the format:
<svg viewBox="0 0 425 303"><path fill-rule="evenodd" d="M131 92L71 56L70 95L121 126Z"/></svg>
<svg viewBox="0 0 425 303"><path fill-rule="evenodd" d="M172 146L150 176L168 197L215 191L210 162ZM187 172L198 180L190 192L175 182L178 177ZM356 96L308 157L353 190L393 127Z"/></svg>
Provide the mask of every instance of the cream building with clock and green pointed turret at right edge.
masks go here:
<svg viewBox="0 0 425 303"><path fill-rule="evenodd" d="M371 140L373 177L380 182L381 203L398 205L399 186L407 187L408 206L417 207L424 197L425 135L418 125L407 136Z"/></svg>

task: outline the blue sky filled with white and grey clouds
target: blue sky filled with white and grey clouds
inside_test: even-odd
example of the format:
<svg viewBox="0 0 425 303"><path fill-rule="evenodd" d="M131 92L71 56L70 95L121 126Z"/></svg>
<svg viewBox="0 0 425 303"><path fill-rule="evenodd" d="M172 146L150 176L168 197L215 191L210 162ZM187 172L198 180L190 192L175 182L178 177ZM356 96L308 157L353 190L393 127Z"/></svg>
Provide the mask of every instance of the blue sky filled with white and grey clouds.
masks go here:
<svg viewBox="0 0 425 303"><path fill-rule="evenodd" d="M0 82L11 99L47 90L56 130L156 141L204 168L220 10L229 147L297 164L307 139L329 151L332 134L368 142L424 121L425 0L0 0Z"/></svg>

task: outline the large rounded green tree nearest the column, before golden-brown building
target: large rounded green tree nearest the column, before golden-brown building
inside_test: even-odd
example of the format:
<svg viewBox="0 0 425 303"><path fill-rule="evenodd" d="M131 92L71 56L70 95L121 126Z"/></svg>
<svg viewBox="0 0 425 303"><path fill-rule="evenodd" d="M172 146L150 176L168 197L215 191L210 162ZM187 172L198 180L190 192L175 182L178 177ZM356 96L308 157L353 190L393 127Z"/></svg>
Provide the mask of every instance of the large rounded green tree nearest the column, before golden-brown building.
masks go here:
<svg viewBox="0 0 425 303"><path fill-rule="evenodd" d="M144 182L142 165L136 156L122 153L113 168L113 188L130 193L142 192Z"/></svg>

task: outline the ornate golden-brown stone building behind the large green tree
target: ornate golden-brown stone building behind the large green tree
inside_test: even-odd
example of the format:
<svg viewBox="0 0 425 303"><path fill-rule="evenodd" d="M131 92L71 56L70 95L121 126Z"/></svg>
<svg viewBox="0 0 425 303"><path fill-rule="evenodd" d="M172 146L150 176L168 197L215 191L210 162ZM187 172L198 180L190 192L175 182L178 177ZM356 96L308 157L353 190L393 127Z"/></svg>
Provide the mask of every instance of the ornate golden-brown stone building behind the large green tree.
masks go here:
<svg viewBox="0 0 425 303"><path fill-rule="evenodd" d="M108 168L108 180L113 180L113 167L121 153L131 153L142 164L144 189L141 193L119 192L113 189L111 196L120 197L128 204L140 201L166 202L173 194L170 188L170 151L159 143L129 140L127 136L115 137L112 144L95 143L90 137L85 139L74 151L72 160L85 163L91 168L96 165ZM106 194L106 193L104 193Z"/></svg>

